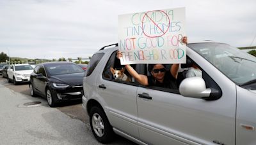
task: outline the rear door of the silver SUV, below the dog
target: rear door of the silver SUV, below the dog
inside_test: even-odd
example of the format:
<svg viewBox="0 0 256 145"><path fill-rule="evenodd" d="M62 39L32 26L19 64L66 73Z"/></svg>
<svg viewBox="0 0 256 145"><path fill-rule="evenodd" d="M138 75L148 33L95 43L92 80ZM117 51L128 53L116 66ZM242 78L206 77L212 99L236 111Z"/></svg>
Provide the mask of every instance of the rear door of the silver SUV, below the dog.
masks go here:
<svg viewBox="0 0 256 145"><path fill-rule="evenodd" d="M104 102L103 100L100 101L108 108L108 119L114 129L138 138L136 104L138 84L134 83L134 81L118 81L113 78L110 67L120 69L120 66L115 65L115 55L115 52L112 53L108 62L102 64L104 69L100 72L97 80L97 92L100 97L104 98ZM104 57L109 56L104 55Z"/></svg>

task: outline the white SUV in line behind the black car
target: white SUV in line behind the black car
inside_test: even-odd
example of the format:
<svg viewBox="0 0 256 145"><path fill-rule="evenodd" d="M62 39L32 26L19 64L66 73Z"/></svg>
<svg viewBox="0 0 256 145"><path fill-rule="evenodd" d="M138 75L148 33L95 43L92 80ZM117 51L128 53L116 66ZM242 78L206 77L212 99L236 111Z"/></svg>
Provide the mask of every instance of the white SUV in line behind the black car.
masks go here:
<svg viewBox="0 0 256 145"><path fill-rule="evenodd" d="M29 64L12 64L7 70L8 82L12 81L14 85L29 82L31 72L33 72L33 68Z"/></svg>

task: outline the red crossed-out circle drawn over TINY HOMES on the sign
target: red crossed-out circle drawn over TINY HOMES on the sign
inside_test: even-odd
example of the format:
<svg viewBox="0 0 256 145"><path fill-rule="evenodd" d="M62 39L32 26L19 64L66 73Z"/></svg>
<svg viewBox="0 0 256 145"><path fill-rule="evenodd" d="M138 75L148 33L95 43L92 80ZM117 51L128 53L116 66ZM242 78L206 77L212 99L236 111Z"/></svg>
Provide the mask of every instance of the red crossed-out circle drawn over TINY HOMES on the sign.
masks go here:
<svg viewBox="0 0 256 145"><path fill-rule="evenodd" d="M163 13L163 15L166 15L166 18L168 18L168 28L166 29L166 31L163 31L157 24L156 22L154 22L154 20L152 20L152 18L148 17L148 13L150 12L154 12L154 11L147 11L147 13L145 13L145 15L143 16L142 18L142 32L145 36L147 36L148 38L158 38L158 37L161 37L163 36L164 34L166 34L166 32L168 31L169 27L170 27L170 18L168 17L167 13L165 13L164 11L162 10L155 10L155 11L159 11L160 13ZM146 32L144 31L144 26L143 26L143 23L144 23L144 20L145 20L145 17L149 18L150 22L153 23L154 25L156 25L156 27L161 31L161 33L159 35L155 35L155 36L150 36L149 34L146 34Z"/></svg>

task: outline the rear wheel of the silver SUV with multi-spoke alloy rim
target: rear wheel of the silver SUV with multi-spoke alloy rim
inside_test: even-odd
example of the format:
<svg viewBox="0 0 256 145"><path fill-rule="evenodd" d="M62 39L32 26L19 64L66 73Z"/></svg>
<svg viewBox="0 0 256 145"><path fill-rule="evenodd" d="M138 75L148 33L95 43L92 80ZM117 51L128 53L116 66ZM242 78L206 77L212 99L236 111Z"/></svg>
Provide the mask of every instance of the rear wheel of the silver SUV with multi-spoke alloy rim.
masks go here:
<svg viewBox="0 0 256 145"><path fill-rule="evenodd" d="M104 111L98 107L92 107L90 111L90 125L97 141L105 144L113 141L114 132Z"/></svg>

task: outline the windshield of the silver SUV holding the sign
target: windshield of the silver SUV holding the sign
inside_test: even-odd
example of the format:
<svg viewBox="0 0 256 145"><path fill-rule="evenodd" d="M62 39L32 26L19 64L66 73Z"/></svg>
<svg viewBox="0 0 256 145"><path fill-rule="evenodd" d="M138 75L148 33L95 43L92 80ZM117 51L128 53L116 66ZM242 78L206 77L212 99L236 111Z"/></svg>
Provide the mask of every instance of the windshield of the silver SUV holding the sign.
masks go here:
<svg viewBox="0 0 256 145"><path fill-rule="evenodd" d="M218 68L237 85L256 81L256 57L223 43L193 43L188 45Z"/></svg>

